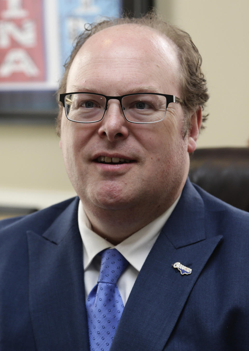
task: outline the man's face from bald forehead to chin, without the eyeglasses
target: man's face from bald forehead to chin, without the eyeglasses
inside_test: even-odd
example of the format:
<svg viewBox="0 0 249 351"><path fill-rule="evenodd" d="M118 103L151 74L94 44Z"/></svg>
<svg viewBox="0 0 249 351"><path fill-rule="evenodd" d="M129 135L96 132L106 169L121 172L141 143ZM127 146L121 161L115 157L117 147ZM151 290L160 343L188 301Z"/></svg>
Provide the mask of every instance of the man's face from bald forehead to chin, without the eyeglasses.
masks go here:
<svg viewBox="0 0 249 351"><path fill-rule="evenodd" d="M68 74L67 92L158 92L181 98L179 72L170 39L148 27L119 25L94 34L81 47ZM104 118L95 123L69 121L63 112L64 162L86 208L95 213L144 207L164 212L179 196L188 173L183 119L176 103L168 106L163 121L144 125L126 121L118 100L110 100ZM110 165L99 162L100 157L129 162Z"/></svg>

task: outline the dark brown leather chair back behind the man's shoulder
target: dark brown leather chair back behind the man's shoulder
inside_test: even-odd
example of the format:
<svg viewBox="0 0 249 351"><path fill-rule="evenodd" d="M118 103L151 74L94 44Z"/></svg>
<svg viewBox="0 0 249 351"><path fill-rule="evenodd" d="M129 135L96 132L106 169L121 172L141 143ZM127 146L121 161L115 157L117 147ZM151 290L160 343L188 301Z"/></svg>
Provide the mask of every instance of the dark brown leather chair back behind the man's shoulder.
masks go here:
<svg viewBox="0 0 249 351"><path fill-rule="evenodd" d="M249 212L249 148L200 148L191 155L190 180L210 194Z"/></svg>

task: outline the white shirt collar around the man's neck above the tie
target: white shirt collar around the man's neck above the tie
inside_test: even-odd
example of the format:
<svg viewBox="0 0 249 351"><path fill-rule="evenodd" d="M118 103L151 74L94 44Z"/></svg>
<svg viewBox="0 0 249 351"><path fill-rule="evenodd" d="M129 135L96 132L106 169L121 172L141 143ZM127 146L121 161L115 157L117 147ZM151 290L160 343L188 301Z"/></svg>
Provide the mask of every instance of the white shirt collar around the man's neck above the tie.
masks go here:
<svg viewBox="0 0 249 351"><path fill-rule="evenodd" d="M181 195L180 195L181 196ZM92 231L91 223L84 211L82 201L78 206L78 226L83 241L83 264L86 270L94 257L104 249L115 248L129 261L129 263L139 272L152 249L160 231L167 219L170 217L180 196L160 217L141 228L129 238L114 246L109 241L103 239Z"/></svg>

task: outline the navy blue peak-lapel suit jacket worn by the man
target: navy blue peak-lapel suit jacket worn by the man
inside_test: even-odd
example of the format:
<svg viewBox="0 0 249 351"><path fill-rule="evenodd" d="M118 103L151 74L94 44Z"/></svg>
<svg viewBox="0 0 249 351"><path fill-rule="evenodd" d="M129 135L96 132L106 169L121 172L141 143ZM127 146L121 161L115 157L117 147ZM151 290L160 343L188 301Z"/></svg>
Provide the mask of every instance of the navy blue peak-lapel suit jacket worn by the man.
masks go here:
<svg viewBox="0 0 249 351"><path fill-rule="evenodd" d="M1 351L89 350L77 207L70 199L0 222ZM111 351L248 350L248 253L249 214L187 180Z"/></svg>

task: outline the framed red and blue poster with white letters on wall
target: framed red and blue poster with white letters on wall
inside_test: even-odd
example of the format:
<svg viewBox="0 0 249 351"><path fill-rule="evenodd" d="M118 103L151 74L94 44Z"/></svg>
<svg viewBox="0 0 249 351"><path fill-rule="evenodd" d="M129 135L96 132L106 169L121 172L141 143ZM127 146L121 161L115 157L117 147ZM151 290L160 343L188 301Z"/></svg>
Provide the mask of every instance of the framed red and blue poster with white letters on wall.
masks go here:
<svg viewBox="0 0 249 351"><path fill-rule="evenodd" d="M148 11L143 0L0 0L0 120L54 121L55 92L72 42L85 24L123 11Z"/></svg>

